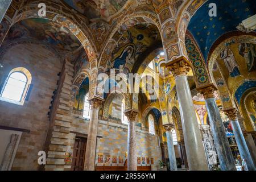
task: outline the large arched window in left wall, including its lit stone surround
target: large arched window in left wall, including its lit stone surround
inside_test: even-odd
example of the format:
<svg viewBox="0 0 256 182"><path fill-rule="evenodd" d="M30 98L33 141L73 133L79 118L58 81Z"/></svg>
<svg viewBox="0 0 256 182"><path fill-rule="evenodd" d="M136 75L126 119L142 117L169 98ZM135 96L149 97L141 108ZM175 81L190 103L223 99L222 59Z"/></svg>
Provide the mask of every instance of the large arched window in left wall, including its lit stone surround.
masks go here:
<svg viewBox="0 0 256 182"><path fill-rule="evenodd" d="M31 84L31 74L26 68L15 68L7 77L0 100L23 105Z"/></svg>

